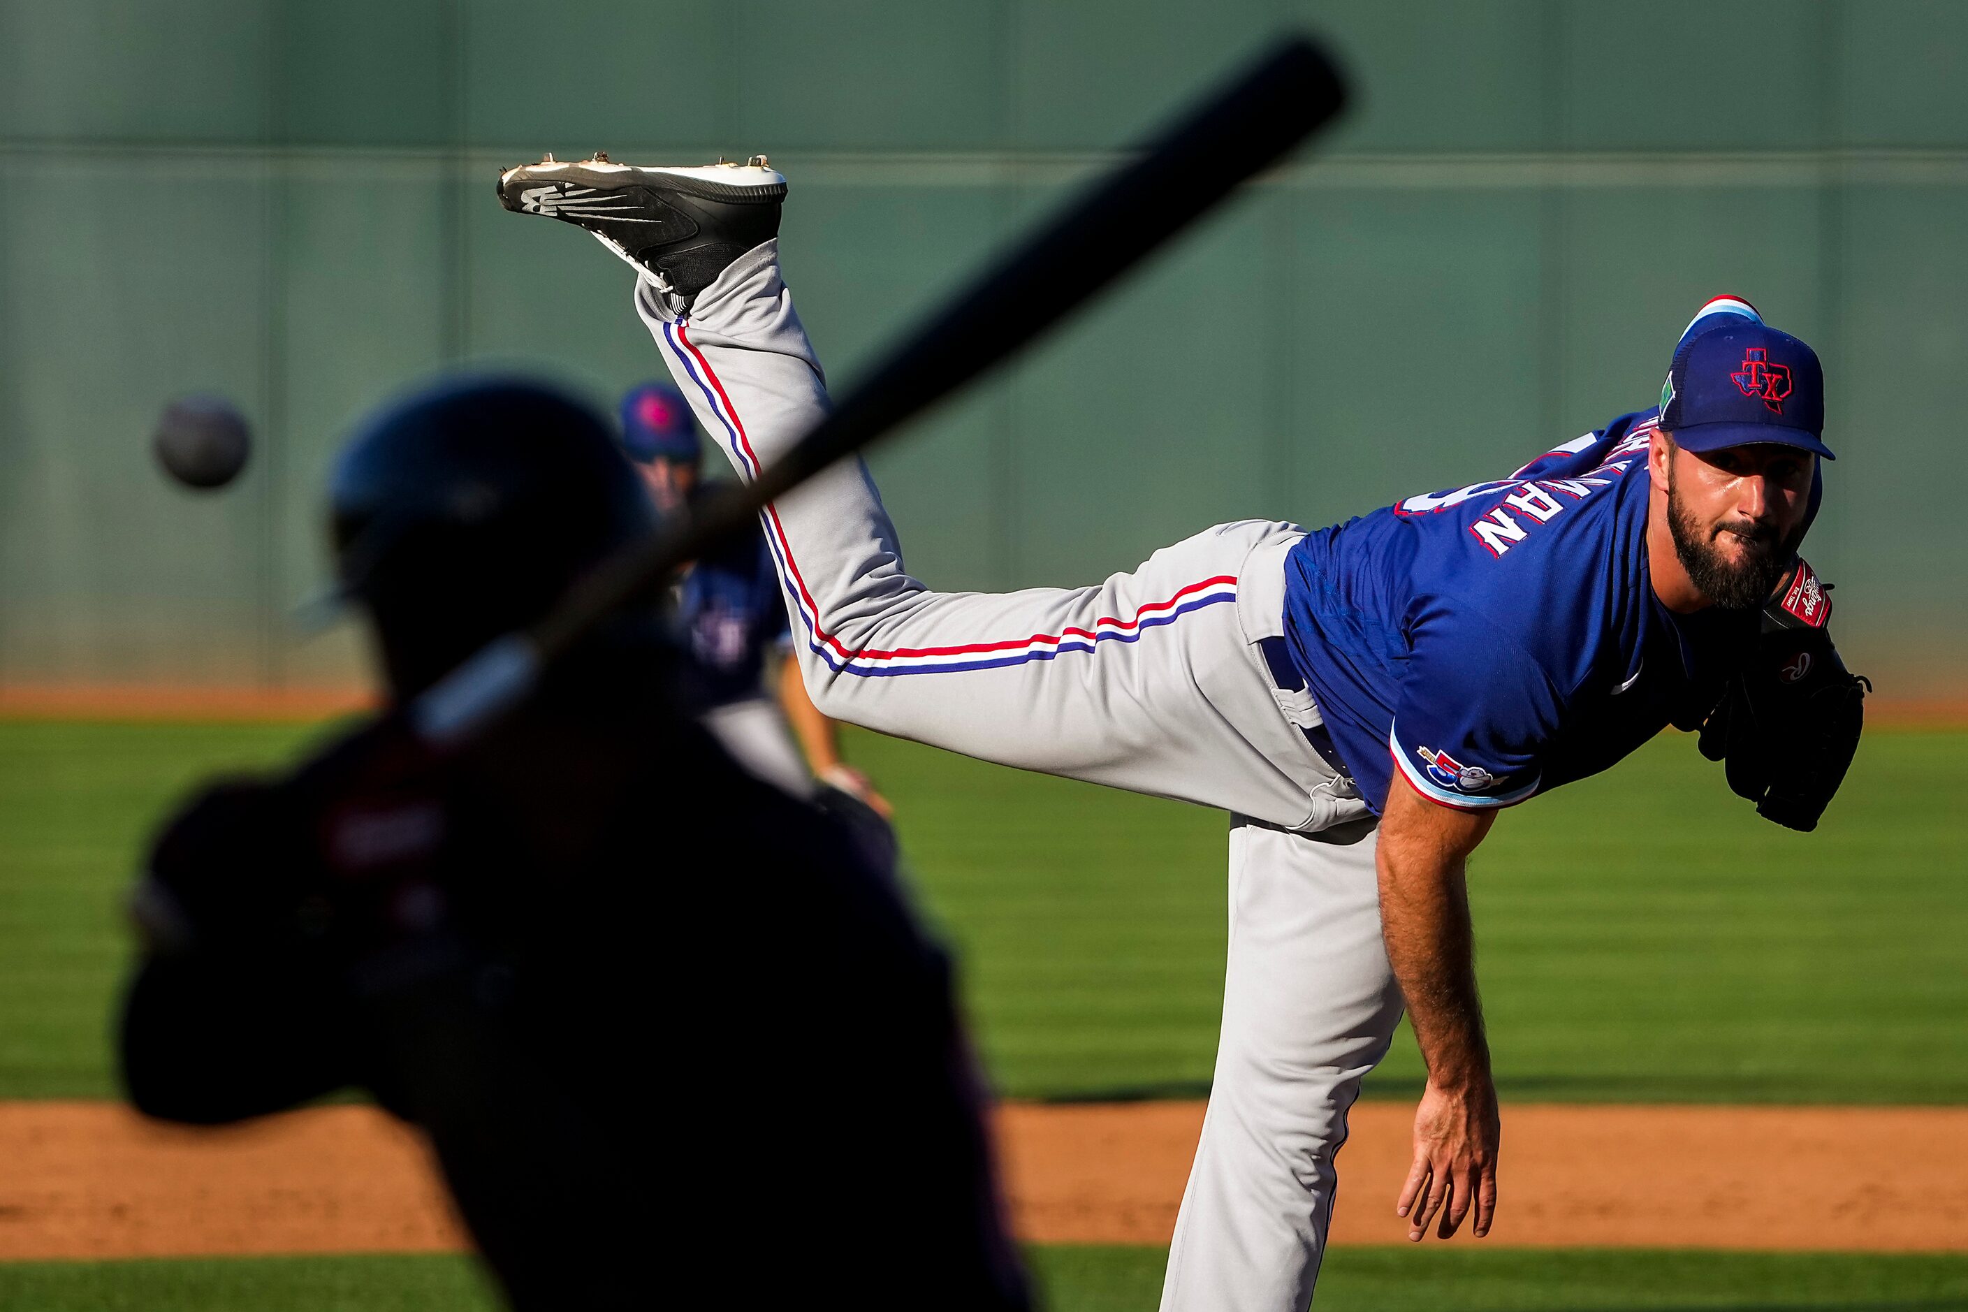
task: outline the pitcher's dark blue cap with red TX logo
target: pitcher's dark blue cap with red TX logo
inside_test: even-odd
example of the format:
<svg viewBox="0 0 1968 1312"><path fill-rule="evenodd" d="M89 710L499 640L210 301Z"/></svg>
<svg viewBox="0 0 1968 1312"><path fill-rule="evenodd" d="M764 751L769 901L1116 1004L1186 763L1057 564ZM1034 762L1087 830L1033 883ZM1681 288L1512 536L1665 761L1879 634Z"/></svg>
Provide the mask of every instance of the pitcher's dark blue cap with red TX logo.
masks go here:
<svg viewBox="0 0 1968 1312"><path fill-rule="evenodd" d="M1822 441L1824 370L1814 350L1742 297L1694 315L1661 388L1661 427L1689 450L1781 443L1834 460Z"/></svg>

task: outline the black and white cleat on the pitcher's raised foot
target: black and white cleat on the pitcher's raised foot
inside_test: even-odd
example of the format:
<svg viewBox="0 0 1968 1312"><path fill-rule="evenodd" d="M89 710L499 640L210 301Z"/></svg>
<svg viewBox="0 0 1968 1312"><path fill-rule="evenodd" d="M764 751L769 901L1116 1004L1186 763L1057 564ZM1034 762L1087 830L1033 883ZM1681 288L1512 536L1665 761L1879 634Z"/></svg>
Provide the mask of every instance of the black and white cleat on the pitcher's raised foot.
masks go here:
<svg viewBox="0 0 1968 1312"><path fill-rule="evenodd" d="M783 199L785 177L766 155L701 169L638 169L596 151L581 163L547 155L498 175L500 205L586 228L683 309L732 260L779 234Z"/></svg>

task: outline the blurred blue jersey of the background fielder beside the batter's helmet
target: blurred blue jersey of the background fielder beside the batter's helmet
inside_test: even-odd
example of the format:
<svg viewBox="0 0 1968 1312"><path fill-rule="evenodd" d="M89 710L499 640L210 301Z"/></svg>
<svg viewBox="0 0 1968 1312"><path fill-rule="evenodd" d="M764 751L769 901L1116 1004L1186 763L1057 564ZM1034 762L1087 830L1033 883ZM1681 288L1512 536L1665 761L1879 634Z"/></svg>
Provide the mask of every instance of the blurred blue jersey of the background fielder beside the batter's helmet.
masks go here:
<svg viewBox="0 0 1968 1312"><path fill-rule="evenodd" d="M677 584L675 622L689 655L687 696L726 706L766 688L766 655L791 641L766 535L697 561Z"/></svg>

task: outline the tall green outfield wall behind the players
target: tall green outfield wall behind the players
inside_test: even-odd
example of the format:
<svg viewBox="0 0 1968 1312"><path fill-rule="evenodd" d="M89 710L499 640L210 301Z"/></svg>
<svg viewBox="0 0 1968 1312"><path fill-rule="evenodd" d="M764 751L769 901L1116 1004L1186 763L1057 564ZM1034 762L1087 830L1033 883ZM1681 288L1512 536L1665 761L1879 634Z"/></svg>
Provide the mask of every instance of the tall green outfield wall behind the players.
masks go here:
<svg viewBox="0 0 1968 1312"><path fill-rule="evenodd" d="M0 0L0 692L348 683L319 492L451 366L608 401L657 368L620 264L498 165L769 151L850 380L1265 33L1358 106L878 464L937 586L1080 582L1220 519L1492 478L1647 405L1710 293L1814 342L1811 555L1881 690L1968 696L1968 4L1956 0ZM258 425L165 486L177 391Z"/></svg>

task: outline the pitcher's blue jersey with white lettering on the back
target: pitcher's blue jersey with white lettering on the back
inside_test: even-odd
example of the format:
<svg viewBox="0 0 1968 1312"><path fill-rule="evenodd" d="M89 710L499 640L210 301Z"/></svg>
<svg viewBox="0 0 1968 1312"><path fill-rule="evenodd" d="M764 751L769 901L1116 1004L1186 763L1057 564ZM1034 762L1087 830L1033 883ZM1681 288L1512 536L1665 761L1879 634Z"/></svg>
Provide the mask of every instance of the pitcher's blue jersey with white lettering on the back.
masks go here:
<svg viewBox="0 0 1968 1312"><path fill-rule="evenodd" d="M1753 612L1669 612L1647 572L1647 443L1614 419L1509 478L1411 496L1287 557L1291 659L1378 812L1507 806L1692 728ZM1816 498L1813 498L1813 509Z"/></svg>

